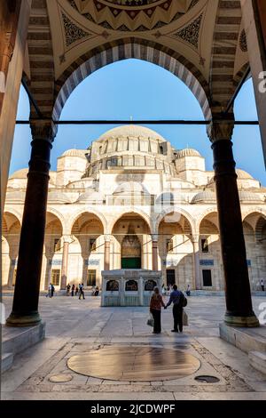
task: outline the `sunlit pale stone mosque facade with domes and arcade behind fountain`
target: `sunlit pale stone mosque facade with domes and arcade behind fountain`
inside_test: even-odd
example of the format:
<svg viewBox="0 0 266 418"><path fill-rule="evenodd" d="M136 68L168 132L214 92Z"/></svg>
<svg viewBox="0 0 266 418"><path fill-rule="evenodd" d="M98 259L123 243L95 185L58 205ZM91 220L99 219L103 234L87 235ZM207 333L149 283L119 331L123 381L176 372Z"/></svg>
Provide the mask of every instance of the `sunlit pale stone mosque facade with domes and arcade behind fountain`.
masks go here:
<svg viewBox="0 0 266 418"><path fill-rule="evenodd" d="M266 189L237 170L253 289L266 280ZM8 181L3 284L15 282L27 169ZM226 197L224 197L226 199ZM162 271L165 284L223 289L214 173L195 149L177 150L142 126L121 126L69 149L51 172L41 289L101 286L101 271Z"/></svg>

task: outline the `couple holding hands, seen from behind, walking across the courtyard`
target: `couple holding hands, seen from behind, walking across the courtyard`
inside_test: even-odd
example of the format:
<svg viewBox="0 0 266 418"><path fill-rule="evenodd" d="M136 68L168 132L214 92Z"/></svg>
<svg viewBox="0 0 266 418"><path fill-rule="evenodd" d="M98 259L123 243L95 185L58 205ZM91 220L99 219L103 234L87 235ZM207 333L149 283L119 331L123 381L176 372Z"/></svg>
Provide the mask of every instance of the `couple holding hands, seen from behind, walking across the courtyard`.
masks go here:
<svg viewBox="0 0 266 418"><path fill-rule="evenodd" d="M190 292L190 289L189 289L189 292ZM173 285L168 303L165 304L160 294L160 289L159 287L156 286L153 289L153 295L150 301L150 312L153 316L153 334L160 334L160 331L161 331L161 325L160 325L161 307L163 307L164 309L167 309L168 306L170 306L172 303L173 303L173 318L174 318L174 328L172 329L172 333L183 332L183 315L184 315L183 309L187 304L187 299L184 296L184 293L178 290L176 285Z"/></svg>

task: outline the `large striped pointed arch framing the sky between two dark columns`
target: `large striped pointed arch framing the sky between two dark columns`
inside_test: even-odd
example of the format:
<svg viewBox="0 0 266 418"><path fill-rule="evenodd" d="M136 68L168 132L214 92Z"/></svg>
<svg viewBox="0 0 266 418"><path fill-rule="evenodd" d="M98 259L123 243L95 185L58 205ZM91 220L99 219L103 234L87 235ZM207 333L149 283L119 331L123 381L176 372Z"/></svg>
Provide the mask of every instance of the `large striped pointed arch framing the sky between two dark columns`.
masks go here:
<svg viewBox="0 0 266 418"><path fill-rule="evenodd" d="M200 103L206 120L211 119L208 84L200 70L177 52L160 44L139 39L123 40L120 43L103 44L75 60L56 81L56 100L53 120L59 120L61 111L74 88L87 76L107 64L135 58L168 69L186 84Z"/></svg>

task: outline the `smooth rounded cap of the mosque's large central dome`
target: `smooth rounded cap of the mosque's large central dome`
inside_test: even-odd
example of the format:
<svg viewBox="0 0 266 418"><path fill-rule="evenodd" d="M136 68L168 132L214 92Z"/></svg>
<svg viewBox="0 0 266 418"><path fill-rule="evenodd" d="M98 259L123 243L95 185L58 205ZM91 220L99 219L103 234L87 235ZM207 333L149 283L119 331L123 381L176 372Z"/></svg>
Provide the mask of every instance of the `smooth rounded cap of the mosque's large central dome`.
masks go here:
<svg viewBox="0 0 266 418"><path fill-rule="evenodd" d="M110 138L120 137L133 137L133 138L150 138L152 140L166 141L159 133L153 131L153 129L145 128L145 126L139 125L123 125L110 129L106 133L103 133L98 141L106 141Z"/></svg>

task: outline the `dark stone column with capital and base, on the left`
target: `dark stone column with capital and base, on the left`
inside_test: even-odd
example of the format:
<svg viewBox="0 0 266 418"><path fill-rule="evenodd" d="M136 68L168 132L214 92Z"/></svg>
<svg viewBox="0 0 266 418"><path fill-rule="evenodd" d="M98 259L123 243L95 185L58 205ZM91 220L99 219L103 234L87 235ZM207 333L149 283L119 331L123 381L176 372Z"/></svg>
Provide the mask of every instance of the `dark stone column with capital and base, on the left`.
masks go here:
<svg viewBox="0 0 266 418"><path fill-rule="evenodd" d="M51 143L55 129L34 125L27 173L27 191L20 234L17 279L12 313L7 326L34 326L41 322L38 312L39 288L43 261L43 243L50 169Z"/></svg>

